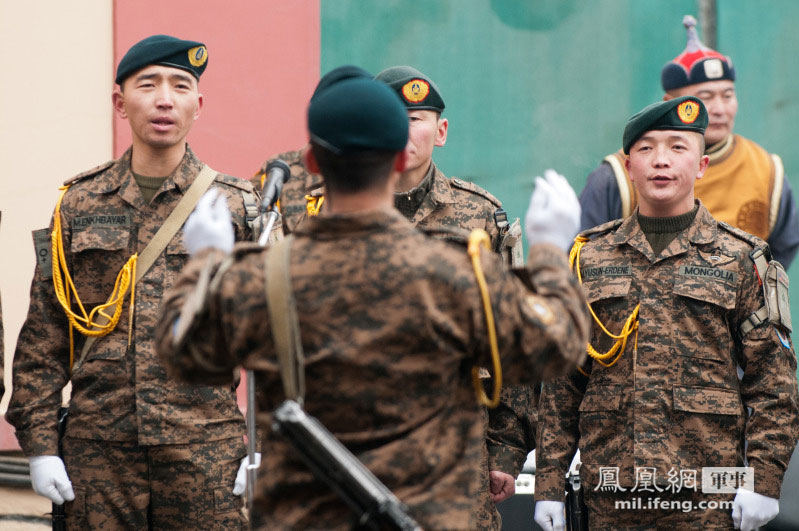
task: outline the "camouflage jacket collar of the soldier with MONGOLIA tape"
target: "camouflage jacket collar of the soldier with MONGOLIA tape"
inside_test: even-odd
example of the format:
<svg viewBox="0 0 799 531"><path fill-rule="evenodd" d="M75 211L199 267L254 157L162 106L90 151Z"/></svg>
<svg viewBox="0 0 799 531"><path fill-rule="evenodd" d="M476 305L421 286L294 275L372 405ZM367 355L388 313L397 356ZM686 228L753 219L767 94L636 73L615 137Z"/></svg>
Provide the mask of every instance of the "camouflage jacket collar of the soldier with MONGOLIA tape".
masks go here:
<svg viewBox="0 0 799 531"><path fill-rule="evenodd" d="M638 207L619 225L610 242L617 246L627 244L646 256L650 262L688 252L692 245L711 243L716 240L718 224L699 199L694 199L694 202L699 206L699 210L691 225L679 233L657 257L638 223Z"/></svg>

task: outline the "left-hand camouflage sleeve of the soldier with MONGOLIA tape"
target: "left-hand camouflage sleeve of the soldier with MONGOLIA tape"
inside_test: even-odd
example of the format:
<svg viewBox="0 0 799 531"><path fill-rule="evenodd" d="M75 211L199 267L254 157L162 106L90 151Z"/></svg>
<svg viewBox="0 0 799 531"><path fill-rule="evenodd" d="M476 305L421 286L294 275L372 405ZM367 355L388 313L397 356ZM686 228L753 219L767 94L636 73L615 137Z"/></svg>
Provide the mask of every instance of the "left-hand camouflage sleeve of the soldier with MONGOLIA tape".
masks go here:
<svg viewBox="0 0 799 531"><path fill-rule="evenodd" d="M574 371L544 382L538 404L535 499L564 501L566 472L577 451L579 407L588 378Z"/></svg>

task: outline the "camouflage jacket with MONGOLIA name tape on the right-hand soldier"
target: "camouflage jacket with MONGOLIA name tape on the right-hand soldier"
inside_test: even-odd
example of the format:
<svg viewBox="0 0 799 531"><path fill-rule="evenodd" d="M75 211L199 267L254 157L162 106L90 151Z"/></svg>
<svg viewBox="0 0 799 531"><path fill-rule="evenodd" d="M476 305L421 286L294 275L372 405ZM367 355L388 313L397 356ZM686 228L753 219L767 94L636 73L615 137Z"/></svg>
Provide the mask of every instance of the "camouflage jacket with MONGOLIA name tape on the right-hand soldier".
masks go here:
<svg viewBox="0 0 799 531"><path fill-rule="evenodd" d="M629 489L636 467L654 468L663 486L672 468L701 481L702 467L747 459L755 490L778 498L797 434L796 356L781 327L740 331L764 305L749 255L765 242L700 204L692 225L655 257L637 212L583 233L591 237L579 263L586 298L616 334L640 304L638 334L615 365L592 360L589 377L544 384L536 499L563 499L578 446L587 489L599 486L600 467L619 467ZM591 344L605 352L612 341L594 325Z"/></svg>

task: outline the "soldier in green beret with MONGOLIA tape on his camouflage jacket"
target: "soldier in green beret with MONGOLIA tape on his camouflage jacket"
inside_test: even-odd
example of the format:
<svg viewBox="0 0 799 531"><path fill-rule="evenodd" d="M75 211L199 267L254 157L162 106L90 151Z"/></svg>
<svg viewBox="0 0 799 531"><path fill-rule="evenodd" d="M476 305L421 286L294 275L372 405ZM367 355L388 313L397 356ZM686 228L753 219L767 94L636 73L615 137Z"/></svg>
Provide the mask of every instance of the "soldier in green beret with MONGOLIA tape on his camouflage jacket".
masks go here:
<svg viewBox="0 0 799 531"><path fill-rule="evenodd" d="M788 281L765 242L694 199L706 125L693 96L633 116L623 145L639 207L576 240L595 351L544 384L535 493L544 529L561 529L577 447L591 529L749 530L777 514L799 414ZM753 484L703 493L703 467L744 463ZM635 498L639 508L616 504Z"/></svg>

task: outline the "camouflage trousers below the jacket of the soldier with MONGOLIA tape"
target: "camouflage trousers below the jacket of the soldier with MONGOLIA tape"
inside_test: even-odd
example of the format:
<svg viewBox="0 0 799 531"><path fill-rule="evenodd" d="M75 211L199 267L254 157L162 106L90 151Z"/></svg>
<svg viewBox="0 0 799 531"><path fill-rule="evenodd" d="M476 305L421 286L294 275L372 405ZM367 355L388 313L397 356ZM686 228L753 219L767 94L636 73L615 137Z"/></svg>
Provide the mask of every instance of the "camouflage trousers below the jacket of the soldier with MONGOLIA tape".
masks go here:
<svg viewBox="0 0 799 531"><path fill-rule="evenodd" d="M732 494L585 491L589 528L676 531L733 529ZM729 502L729 506L726 504ZM618 505L622 504L622 505ZM709 507L709 508L708 508Z"/></svg>

